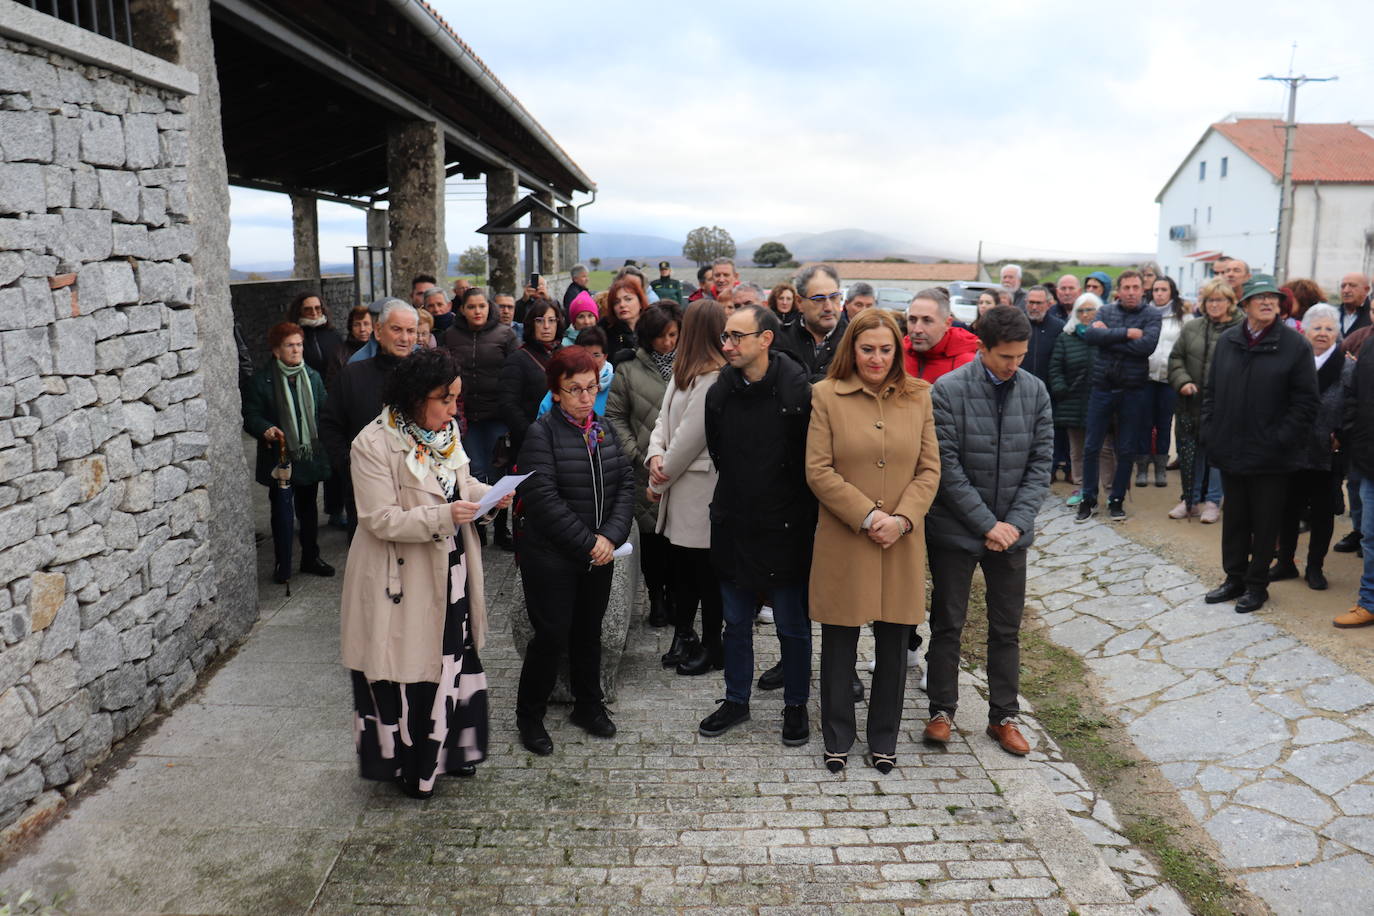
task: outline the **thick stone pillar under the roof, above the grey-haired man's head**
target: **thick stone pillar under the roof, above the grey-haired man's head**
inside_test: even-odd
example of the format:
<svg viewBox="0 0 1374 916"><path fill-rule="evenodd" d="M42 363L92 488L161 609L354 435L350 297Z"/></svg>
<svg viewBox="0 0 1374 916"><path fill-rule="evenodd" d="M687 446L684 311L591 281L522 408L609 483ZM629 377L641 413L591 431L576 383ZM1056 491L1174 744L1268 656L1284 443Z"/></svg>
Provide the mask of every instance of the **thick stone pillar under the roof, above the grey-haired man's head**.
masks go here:
<svg viewBox="0 0 1374 916"><path fill-rule="evenodd" d="M411 277L448 276L444 240L444 132L431 121L400 121L386 132L390 188L392 295L409 299Z"/></svg>

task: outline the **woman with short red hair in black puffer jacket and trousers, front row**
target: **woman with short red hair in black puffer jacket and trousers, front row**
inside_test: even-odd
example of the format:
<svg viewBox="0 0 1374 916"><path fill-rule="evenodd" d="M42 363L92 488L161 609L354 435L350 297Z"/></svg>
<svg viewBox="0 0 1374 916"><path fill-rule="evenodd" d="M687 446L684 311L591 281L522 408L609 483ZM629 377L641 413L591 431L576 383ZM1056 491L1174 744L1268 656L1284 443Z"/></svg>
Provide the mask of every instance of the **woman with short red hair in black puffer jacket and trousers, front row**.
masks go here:
<svg viewBox="0 0 1374 916"><path fill-rule="evenodd" d="M600 689L600 629L610 599L611 553L629 537L635 474L616 431L596 416L596 360L584 347L558 350L545 371L554 409L525 431L517 463L519 571L534 636L525 650L515 725L526 750L545 755L544 729L558 661L567 651L574 725L616 733Z"/></svg>

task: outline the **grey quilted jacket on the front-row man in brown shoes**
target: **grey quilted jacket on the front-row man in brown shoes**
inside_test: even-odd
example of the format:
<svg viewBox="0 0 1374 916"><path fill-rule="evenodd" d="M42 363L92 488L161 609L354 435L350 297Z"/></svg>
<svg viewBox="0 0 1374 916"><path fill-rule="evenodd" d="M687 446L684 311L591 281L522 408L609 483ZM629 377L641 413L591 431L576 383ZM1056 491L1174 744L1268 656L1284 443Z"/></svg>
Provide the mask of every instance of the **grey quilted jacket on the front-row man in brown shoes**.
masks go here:
<svg viewBox="0 0 1374 916"><path fill-rule="evenodd" d="M947 372L930 390L940 439L940 492L926 515L926 541L981 555L998 522L1021 531L1011 549L1035 540L1035 518L1050 492L1054 413L1044 382L1025 369L1002 409L982 360Z"/></svg>

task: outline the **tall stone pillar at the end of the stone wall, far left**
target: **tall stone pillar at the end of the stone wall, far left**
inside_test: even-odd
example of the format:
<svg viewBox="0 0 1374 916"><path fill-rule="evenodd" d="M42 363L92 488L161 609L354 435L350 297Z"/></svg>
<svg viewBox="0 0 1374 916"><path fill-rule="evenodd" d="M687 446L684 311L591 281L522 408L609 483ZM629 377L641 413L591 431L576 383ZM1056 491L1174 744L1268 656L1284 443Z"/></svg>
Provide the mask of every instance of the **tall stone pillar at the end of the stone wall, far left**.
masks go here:
<svg viewBox="0 0 1374 916"><path fill-rule="evenodd" d="M158 29L154 51L194 71L199 95L187 99L190 150L187 201L195 235L192 310L199 328L201 376L206 400L209 475L209 556L214 563L214 622L206 637L223 651L242 640L258 617L253 544L253 493L243 460L243 407L239 398L234 309L229 304L229 177L220 130L220 81L210 34L210 4L203 0L154 0L135 22L176 23Z"/></svg>

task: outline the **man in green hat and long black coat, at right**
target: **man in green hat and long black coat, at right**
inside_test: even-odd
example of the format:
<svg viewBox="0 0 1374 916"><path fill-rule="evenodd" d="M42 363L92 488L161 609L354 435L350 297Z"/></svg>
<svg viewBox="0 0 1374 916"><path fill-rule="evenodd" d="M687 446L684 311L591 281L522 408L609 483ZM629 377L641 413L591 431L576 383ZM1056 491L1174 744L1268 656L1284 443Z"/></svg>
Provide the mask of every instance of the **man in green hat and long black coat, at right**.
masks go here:
<svg viewBox="0 0 1374 916"><path fill-rule="evenodd" d="M1312 347L1279 320L1282 294L1256 273L1245 283L1245 320L1216 342L1202 393L1201 442L1221 468L1221 567L1226 581L1206 603L1235 599L1235 612L1263 607L1270 562L1283 518L1289 475L1297 470L1316 416Z"/></svg>

